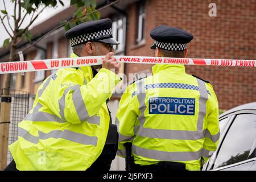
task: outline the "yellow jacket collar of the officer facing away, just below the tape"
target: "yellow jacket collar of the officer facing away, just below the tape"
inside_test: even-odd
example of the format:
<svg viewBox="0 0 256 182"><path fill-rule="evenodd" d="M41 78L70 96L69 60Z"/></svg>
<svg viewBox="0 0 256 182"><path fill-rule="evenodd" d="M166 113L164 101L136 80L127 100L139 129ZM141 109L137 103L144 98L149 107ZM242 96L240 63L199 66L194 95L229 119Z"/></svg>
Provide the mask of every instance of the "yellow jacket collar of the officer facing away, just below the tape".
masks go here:
<svg viewBox="0 0 256 182"><path fill-rule="evenodd" d="M183 64L155 64L152 67L152 73L155 75L159 72L185 73L185 66Z"/></svg>

